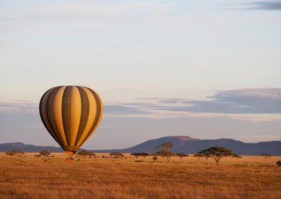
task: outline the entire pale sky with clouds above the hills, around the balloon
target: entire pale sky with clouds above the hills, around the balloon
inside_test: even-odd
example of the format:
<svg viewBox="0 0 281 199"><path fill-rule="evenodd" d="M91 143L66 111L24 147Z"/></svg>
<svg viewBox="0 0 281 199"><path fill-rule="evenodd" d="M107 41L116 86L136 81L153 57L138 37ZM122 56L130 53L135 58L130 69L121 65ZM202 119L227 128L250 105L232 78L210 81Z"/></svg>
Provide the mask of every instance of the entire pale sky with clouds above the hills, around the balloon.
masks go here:
<svg viewBox="0 0 281 199"><path fill-rule="evenodd" d="M0 0L0 143L58 146L56 85L105 104L86 149L169 135L281 140L281 1Z"/></svg>

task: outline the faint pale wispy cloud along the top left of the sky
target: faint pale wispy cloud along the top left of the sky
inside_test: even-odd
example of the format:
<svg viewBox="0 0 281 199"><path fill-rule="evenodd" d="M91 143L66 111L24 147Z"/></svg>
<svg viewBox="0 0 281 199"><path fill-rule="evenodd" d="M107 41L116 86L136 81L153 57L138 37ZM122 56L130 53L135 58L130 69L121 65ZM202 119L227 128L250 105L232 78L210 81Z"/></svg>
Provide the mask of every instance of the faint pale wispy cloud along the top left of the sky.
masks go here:
<svg viewBox="0 0 281 199"><path fill-rule="evenodd" d="M131 16L134 19L147 16L166 15L173 4L161 1L79 1L79 2L44 2L32 6L15 6L13 11L2 11L2 20L20 20L45 22L92 22L100 20L126 20ZM128 18L127 20L131 20Z"/></svg>

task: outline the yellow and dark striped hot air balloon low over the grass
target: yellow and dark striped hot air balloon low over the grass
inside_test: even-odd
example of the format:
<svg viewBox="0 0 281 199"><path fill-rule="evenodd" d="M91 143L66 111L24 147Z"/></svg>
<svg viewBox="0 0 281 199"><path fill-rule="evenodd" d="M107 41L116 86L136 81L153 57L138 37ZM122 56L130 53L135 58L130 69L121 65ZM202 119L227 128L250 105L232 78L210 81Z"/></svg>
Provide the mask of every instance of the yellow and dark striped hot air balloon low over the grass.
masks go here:
<svg viewBox="0 0 281 199"><path fill-rule="evenodd" d="M90 88L63 85L44 93L39 111L53 139L72 156L98 127L103 102Z"/></svg>

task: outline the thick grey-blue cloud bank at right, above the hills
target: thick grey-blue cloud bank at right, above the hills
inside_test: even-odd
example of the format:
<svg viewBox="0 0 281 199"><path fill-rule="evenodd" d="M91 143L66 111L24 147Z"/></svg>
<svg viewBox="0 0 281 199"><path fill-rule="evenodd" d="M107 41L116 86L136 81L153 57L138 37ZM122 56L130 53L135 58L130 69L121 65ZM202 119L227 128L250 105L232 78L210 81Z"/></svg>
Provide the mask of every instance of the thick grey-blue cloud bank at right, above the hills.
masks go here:
<svg viewBox="0 0 281 199"><path fill-rule="evenodd" d="M208 100L164 99L170 111L221 114L281 114L281 88L257 88L216 92ZM175 106L174 104L181 104Z"/></svg>

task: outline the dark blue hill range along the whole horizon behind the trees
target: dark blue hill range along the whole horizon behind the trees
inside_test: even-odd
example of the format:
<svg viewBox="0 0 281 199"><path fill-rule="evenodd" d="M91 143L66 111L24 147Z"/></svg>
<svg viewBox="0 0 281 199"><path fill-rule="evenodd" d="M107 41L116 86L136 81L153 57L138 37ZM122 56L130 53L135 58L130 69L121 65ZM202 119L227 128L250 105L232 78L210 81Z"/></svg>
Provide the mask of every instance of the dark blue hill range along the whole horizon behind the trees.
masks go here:
<svg viewBox="0 0 281 199"><path fill-rule="evenodd" d="M188 136L168 136L160 137L158 139L150 139L146 142L132 146L126 149L112 149L112 150L91 150L93 152L110 153L112 151L120 151L123 153L134 152L148 152L155 153L156 146L164 142L172 142L174 146L171 151L174 153L197 153L202 149L207 149L211 146L223 146L232 149L239 155L260 155L261 153L269 153L273 156L281 156L281 141L245 143L235 139L195 139ZM55 146L34 146L30 144L23 144L21 142L0 144L0 151L11 151L18 149L24 152L39 152L48 150L51 152L62 152L63 149Z"/></svg>

